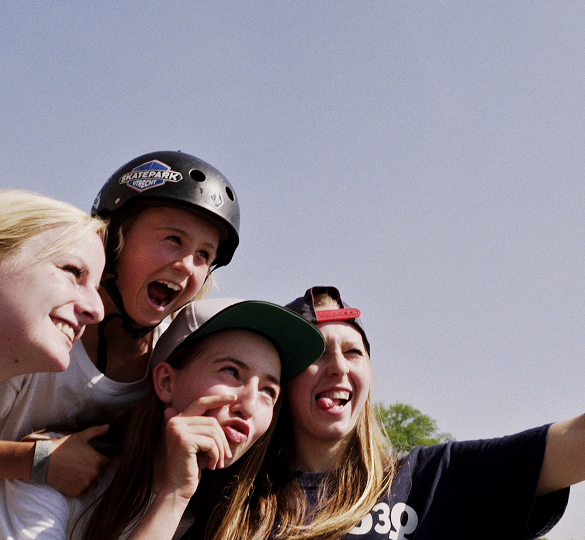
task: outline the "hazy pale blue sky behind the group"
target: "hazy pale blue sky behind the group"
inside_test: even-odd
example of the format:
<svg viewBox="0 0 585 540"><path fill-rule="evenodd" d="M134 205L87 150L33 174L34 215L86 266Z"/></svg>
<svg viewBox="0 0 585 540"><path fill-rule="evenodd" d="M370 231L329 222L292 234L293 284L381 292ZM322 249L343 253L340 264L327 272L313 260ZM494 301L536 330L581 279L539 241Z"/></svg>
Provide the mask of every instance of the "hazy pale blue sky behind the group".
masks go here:
<svg viewBox="0 0 585 540"><path fill-rule="evenodd" d="M233 184L217 296L335 285L379 401L457 439L585 409L585 6L4 2L2 187L89 210L133 157ZM551 540L585 538L574 489Z"/></svg>

